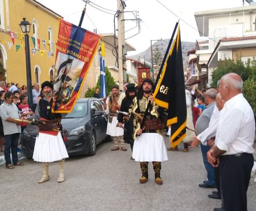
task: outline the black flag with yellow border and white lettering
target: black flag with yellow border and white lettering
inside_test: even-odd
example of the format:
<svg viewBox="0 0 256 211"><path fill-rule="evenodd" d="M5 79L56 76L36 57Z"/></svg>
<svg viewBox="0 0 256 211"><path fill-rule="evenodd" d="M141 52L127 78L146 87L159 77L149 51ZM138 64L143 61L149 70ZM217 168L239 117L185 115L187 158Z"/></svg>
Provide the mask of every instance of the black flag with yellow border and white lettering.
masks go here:
<svg viewBox="0 0 256 211"><path fill-rule="evenodd" d="M176 24L153 94L155 102L168 109L167 125L171 126L171 146L177 146L186 137L187 106L180 41ZM176 30L177 29L177 30Z"/></svg>

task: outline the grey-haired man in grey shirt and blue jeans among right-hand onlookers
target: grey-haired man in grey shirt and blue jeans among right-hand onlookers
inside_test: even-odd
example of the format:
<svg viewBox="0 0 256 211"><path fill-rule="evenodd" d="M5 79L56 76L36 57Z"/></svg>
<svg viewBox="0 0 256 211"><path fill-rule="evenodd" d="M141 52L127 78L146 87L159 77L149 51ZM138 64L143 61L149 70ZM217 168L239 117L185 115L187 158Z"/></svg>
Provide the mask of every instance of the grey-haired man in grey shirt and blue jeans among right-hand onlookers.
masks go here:
<svg viewBox="0 0 256 211"><path fill-rule="evenodd" d="M202 133L206 128L209 126L209 122L211 120L214 107L216 105L217 91L215 89L208 89L206 91L205 100L208 104L206 108L203 110L202 114L200 115L199 119L196 122L196 134ZM216 180L215 180L215 169L214 167L208 162L207 160L207 152L211 147L208 145L201 145L202 150L202 159L205 169L207 171L207 178L208 180L202 184L199 184L200 187L204 188L215 188L216 187Z"/></svg>

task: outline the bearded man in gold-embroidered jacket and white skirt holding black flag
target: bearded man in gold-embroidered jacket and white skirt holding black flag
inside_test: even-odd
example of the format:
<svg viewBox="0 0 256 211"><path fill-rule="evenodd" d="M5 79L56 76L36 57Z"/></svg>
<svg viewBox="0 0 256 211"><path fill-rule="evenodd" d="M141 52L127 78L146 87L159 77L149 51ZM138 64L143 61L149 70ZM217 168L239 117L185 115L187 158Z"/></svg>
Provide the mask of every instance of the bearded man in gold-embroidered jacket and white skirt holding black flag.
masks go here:
<svg viewBox="0 0 256 211"><path fill-rule="evenodd" d="M148 181L148 162L153 163L155 171L155 181L162 185L160 177L161 162L168 160L164 139L161 130L164 128L162 123L163 109L156 105L152 96L153 82L144 79L137 96L133 100L132 115L134 116L134 147L133 158L140 162L142 177L140 183ZM145 113L149 103L148 113ZM146 121L141 128L141 117L146 115Z"/></svg>

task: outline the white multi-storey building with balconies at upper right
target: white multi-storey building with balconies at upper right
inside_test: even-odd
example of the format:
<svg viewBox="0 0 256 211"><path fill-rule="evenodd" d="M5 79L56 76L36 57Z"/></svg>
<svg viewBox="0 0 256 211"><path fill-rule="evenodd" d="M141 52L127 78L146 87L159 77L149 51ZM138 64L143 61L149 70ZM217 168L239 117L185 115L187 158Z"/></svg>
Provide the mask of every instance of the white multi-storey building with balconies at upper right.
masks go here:
<svg viewBox="0 0 256 211"><path fill-rule="evenodd" d="M200 36L204 37L197 40L198 66L201 66L200 72L201 69L207 71L208 86L218 61L235 59L232 52L246 48L246 51L239 52L242 57L243 53L247 58L256 56L253 50L256 47L256 5L202 11L194 15Z"/></svg>

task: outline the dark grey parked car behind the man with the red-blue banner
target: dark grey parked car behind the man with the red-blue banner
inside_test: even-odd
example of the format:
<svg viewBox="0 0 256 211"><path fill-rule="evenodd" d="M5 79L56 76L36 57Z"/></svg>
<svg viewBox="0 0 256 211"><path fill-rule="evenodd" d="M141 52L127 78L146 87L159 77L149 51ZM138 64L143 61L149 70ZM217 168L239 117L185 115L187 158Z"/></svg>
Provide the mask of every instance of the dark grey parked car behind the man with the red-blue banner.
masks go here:
<svg viewBox="0 0 256 211"><path fill-rule="evenodd" d="M111 140L111 137L106 135L108 117L100 99L77 100L72 112L67 114L61 123L69 156L95 155L97 144ZM28 125L22 133L22 150L27 158L33 157L38 130L36 125Z"/></svg>

